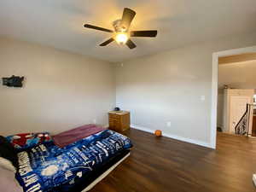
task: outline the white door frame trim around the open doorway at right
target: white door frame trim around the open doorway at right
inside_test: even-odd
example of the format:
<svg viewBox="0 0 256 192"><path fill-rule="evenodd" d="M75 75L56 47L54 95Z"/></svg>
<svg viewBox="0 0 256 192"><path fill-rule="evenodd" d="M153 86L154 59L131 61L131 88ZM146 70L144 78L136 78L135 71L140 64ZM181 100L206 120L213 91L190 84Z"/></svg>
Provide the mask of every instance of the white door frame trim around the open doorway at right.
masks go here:
<svg viewBox="0 0 256 192"><path fill-rule="evenodd" d="M212 117L211 117L211 148L216 148L217 105L218 105L218 57L256 53L256 46L241 49L229 49L212 54Z"/></svg>

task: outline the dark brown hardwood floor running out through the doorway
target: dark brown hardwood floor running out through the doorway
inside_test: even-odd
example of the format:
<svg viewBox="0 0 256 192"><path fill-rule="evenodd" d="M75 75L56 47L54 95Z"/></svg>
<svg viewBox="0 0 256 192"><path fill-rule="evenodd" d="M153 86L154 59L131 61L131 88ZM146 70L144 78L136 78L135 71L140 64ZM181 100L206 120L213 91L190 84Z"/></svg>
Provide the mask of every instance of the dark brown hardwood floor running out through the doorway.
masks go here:
<svg viewBox="0 0 256 192"><path fill-rule="evenodd" d="M256 139L218 133L217 150L125 132L131 156L90 192L251 192Z"/></svg>

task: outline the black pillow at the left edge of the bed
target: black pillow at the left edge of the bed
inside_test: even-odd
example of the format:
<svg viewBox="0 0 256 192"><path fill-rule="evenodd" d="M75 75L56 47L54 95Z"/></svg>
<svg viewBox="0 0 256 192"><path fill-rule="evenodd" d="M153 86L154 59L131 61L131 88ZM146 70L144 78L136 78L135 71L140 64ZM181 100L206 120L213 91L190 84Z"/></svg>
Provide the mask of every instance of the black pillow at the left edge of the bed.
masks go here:
<svg viewBox="0 0 256 192"><path fill-rule="evenodd" d="M8 142L8 140L0 136L0 157L4 158L3 166L6 166L6 160L9 160L13 166L18 168L18 156L15 148Z"/></svg>

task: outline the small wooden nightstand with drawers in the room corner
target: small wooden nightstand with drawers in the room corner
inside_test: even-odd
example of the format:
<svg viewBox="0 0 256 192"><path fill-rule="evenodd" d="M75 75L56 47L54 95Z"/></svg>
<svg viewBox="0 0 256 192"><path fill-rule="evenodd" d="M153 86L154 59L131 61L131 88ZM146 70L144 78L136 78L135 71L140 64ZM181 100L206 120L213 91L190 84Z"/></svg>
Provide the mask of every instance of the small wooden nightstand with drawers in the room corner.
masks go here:
<svg viewBox="0 0 256 192"><path fill-rule="evenodd" d="M109 129L113 131L125 131L130 129L130 112L111 111L108 113Z"/></svg>

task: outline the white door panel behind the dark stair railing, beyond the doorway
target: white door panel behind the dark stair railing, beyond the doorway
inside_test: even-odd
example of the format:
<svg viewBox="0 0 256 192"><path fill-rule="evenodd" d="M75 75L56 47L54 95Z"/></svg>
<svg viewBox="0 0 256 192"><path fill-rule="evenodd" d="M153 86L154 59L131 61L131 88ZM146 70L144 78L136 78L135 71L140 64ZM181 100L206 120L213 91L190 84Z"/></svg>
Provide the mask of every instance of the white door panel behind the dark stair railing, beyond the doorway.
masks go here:
<svg viewBox="0 0 256 192"><path fill-rule="evenodd" d="M251 96L230 96L230 132L235 133L236 124L246 112L247 103L252 102Z"/></svg>

